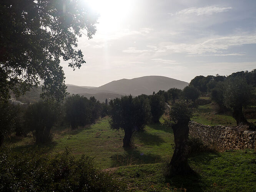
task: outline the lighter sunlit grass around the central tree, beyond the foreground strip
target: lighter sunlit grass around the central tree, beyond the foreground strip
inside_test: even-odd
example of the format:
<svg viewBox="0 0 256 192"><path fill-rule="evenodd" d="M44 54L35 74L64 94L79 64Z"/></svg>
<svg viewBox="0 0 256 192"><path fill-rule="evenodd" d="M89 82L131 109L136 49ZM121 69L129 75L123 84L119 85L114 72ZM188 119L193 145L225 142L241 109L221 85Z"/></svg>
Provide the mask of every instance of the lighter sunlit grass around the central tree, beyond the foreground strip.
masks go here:
<svg viewBox="0 0 256 192"><path fill-rule="evenodd" d="M171 144L174 139L172 129L166 129L161 124L149 124L144 132L137 132L134 135L134 148L125 151L122 147L124 132L110 129L108 120L106 117L96 124L75 131L64 130L55 134L53 142L44 147L53 155L65 151L68 147L77 157L83 154L94 157L95 164L100 169L156 163L171 158ZM163 122L163 119L160 121ZM10 139L11 142L8 141ZM26 148L33 151L37 148L32 137L10 139L6 139L5 144L17 151Z"/></svg>

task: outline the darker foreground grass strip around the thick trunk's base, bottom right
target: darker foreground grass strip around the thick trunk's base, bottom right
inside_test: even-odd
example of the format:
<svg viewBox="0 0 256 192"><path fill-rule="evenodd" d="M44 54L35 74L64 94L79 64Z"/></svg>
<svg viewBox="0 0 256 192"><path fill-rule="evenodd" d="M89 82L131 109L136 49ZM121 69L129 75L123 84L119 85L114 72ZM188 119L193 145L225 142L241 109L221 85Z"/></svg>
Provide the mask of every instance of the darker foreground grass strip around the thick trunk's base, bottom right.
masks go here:
<svg viewBox="0 0 256 192"><path fill-rule="evenodd" d="M133 191L255 191L254 151L205 152L190 157L191 175L166 178L163 164L119 167L113 175Z"/></svg>

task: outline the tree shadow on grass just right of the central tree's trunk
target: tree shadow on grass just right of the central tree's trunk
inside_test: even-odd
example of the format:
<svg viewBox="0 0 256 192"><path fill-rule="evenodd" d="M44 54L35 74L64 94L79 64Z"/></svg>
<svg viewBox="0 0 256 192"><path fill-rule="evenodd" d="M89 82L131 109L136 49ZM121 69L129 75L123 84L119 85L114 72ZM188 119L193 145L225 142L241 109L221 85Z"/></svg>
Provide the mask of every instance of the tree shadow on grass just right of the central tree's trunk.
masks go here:
<svg viewBox="0 0 256 192"><path fill-rule="evenodd" d="M138 132L135 135L136 138L138 138L141 142L143 142L145 145L160 145L161 143L165 142L161 137L155 134L150 134L149 132L143 131Z"/></svg>

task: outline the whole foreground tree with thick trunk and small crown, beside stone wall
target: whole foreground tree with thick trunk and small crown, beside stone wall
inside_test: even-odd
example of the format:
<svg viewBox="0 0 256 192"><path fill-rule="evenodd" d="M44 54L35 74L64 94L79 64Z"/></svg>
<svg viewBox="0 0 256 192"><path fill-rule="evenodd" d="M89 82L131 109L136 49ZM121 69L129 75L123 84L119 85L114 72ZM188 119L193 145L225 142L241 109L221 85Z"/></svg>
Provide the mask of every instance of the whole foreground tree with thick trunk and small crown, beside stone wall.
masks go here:
<svg viewBox="0 0 256 192"><path fill-rule="evenodd" d="M192 116L191 103L181 101L173 104L169 111L169 119L165 122L171 126L174 134L175 150L171 158L169 174L188 174L191 168L188 164L188 123Z"/></svg>

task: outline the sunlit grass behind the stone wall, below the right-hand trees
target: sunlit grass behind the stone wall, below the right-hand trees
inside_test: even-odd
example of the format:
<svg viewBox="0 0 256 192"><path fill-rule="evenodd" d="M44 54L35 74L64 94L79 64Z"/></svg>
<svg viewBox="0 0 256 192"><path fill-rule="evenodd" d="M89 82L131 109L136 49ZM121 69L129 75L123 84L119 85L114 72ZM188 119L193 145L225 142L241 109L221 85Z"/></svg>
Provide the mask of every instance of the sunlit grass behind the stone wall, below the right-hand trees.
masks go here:
<svg viewBox="0 0 256 192"><path fill-rule="evenodd" d="M204 125L223 125L223 126L236 126L236 120L232 117L232 112L228 111L223 114L216 113L216 106L207 104L198 106L193 118L191 120ZM249 122L255 122L256 119L247 119Z"/></svg>

